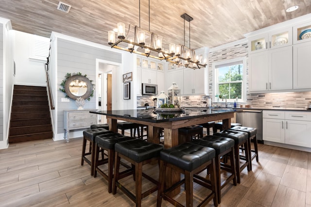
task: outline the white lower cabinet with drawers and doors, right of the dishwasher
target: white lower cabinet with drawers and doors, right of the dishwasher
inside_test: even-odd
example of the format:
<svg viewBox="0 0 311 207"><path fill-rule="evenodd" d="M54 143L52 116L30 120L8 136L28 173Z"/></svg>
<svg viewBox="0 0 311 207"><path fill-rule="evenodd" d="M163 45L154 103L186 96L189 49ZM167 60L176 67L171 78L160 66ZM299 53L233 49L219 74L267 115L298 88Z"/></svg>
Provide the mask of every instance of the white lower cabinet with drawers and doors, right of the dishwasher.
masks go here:
<svg viewBox="0 0 311 207"><path fill-rule="evenodd" d="M262 112L262 139L311 147L311 112L274 111Z"/></svg>

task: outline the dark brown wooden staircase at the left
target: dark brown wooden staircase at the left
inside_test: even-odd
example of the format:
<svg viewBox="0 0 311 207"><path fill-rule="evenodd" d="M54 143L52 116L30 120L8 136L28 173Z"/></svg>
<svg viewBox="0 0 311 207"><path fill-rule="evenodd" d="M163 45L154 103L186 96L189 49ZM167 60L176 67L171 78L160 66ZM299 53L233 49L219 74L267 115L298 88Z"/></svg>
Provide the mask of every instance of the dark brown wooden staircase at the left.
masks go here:
<svg viewBox="0 0 311 207"><path fill-rule="evenodd" d="M47 88L14 85L9 143L53 137Z"/></svg>

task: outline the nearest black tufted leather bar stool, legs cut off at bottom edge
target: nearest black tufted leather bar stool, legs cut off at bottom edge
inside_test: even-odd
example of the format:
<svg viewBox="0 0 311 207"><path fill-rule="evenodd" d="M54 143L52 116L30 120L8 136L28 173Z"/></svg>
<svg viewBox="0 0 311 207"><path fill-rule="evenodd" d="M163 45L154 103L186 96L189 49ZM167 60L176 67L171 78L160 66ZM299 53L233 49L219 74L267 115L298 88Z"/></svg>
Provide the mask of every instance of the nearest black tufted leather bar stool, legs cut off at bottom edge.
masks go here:
<svg viewBox="0 0 311 207"><path fill-rule="evenodd" d="M166 180L166 168L170 167L178 173L185 175L185 178L170 188L164 189ZM196 175L205 168L209 168L210 180L205 177ZM169 178L167 178L169 179ZM160 207L162 198L169 201L174 206L183 206L178 201L170 197L170 191L185 183L186 192L186 206L193 206L193 182L211 189L211 193L199 204L199 206L206 205L211 199L214 201L214 206L218 206L217 201L217 187L215 176L215 150L210 147L202 146L195 143L182 143L160 152L160 175L159 175L160 189L157 194L156 206Z"/></svg>

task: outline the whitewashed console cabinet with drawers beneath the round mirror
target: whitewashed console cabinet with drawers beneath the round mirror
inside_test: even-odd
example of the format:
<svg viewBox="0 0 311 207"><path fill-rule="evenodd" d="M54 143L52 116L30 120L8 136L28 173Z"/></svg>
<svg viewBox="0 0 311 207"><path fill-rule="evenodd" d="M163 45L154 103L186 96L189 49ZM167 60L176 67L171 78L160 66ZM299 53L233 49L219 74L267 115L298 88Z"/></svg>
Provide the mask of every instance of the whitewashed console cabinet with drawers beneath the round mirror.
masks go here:
<svg viewBox="0 0 311 207"><path fill-rule="evenodd" d="M69 130L89 128L93 124L97 124L97 115L85 110L64 110L64 139L69 142Z"/></svg>

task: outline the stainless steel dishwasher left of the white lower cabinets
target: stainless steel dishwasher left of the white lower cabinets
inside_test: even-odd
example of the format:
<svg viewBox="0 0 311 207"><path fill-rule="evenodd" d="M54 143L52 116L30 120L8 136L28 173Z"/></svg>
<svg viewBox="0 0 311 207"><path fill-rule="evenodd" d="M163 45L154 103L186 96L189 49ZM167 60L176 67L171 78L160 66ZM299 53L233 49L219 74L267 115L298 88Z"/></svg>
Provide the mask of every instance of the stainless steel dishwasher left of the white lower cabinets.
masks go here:
<svg viewBox="0 0 311 207"><path fill-rule="evenodd" d="M237 123L243 127L257 128L257 141L262 141L262 110L243 109L243 112L237 112Z"/></svg>

